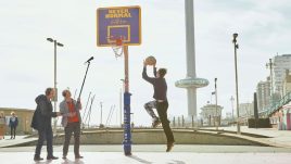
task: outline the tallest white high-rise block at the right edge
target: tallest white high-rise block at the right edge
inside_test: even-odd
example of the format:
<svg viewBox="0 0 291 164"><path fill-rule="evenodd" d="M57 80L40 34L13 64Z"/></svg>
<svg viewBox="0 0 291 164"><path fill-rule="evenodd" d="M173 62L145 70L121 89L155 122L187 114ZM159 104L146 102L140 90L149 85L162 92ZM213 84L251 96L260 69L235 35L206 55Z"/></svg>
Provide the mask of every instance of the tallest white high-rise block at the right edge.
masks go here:
<svg viewBox="0 0 291 164"><path fill-rule="evenodd" d="M273 61L274 61L274 68L273 68L274 92L282 97L286 70L291 70L291 54L276 55L273 58Z"/></svg>

